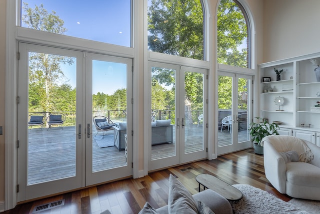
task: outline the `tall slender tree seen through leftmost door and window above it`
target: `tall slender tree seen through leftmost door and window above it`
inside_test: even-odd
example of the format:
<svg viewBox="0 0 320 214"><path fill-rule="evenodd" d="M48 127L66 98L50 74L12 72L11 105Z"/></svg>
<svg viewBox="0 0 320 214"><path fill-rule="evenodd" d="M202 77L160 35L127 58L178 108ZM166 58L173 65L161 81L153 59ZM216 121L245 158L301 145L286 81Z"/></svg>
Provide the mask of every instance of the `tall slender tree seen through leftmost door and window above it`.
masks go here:
<svg viewBox="0 0 320 214"><path fill-rule="evenodd" d="M66 28L63 27L63 20L59 19L54 11L48 13L42 4L31 9L27 3L23 3L22 9L24 10L22 22L28 28L56 34L63 34L66 31ZM34 93L40 95L41 100L36 101L32 95L31 98L33 99L29 99L29 105L35 104L36 101L37 105L41 104L42 110L47 114L50 111L63 110L55 106L56 100L62 96L52 93L57 87L57 81L64 77L60 67L61 64L71 65L73 59L44 53L29 53L29 91L30 89L36 90L34 86L37 85L43 87L45 92L45 97L42 96L43 92L40 88L37 88L37 92L30 92L31 95Z"/></svg>

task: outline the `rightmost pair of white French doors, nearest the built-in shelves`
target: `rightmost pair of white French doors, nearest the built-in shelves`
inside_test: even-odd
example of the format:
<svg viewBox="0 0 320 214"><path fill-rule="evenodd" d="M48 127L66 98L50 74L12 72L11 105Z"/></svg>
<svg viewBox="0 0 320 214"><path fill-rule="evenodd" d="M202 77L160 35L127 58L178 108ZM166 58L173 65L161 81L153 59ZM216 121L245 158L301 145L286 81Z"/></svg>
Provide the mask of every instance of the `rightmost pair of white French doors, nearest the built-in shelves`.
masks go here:
<svg viewBox="0 0 320 214"><path fill-rule="evenodd" d="M251 76L218 72L218 154L251 147Z"/></svg>

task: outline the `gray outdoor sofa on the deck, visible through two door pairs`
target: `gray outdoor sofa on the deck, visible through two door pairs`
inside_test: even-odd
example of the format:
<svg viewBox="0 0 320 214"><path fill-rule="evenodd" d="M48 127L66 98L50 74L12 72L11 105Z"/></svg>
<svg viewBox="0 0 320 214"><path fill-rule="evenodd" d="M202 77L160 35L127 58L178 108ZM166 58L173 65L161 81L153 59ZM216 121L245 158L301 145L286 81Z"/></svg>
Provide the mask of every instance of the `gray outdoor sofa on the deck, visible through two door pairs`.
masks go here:
<svg viewBox="0 0 320 214"><path fill-rule="evenodd" d="M172 143L173 126L171 120L155 120L151 122L151 145ZM126 134L126 123L117 123L114 128L114 145L119 151L124 150L124 135Z"/></svg>

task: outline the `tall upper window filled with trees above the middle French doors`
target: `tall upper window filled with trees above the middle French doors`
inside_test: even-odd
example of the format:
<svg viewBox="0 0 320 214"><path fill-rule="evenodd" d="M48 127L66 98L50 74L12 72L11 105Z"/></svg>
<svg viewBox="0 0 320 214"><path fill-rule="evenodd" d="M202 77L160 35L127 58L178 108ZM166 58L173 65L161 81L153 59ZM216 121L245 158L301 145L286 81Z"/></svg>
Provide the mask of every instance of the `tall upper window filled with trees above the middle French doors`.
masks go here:
<svg viewBox="0 0 320 214"><path fill-rule="evenodd" d="M200 0L148 0L148 50L204 59Z"/></svg>

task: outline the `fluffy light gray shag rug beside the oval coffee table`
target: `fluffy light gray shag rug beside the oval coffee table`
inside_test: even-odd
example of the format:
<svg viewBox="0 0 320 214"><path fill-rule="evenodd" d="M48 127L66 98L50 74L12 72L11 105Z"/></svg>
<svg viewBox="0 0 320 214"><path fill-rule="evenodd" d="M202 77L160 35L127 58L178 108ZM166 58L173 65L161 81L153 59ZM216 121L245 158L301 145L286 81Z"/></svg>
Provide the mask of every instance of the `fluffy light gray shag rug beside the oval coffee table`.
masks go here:
<svg viewBox="0 0 320 214"><path fill-rule="evenodd" d="M233 186L239 189L243 195L238 201L230 201L235 214L309 213L259 188L247 184L234 184Z"/></svg>

